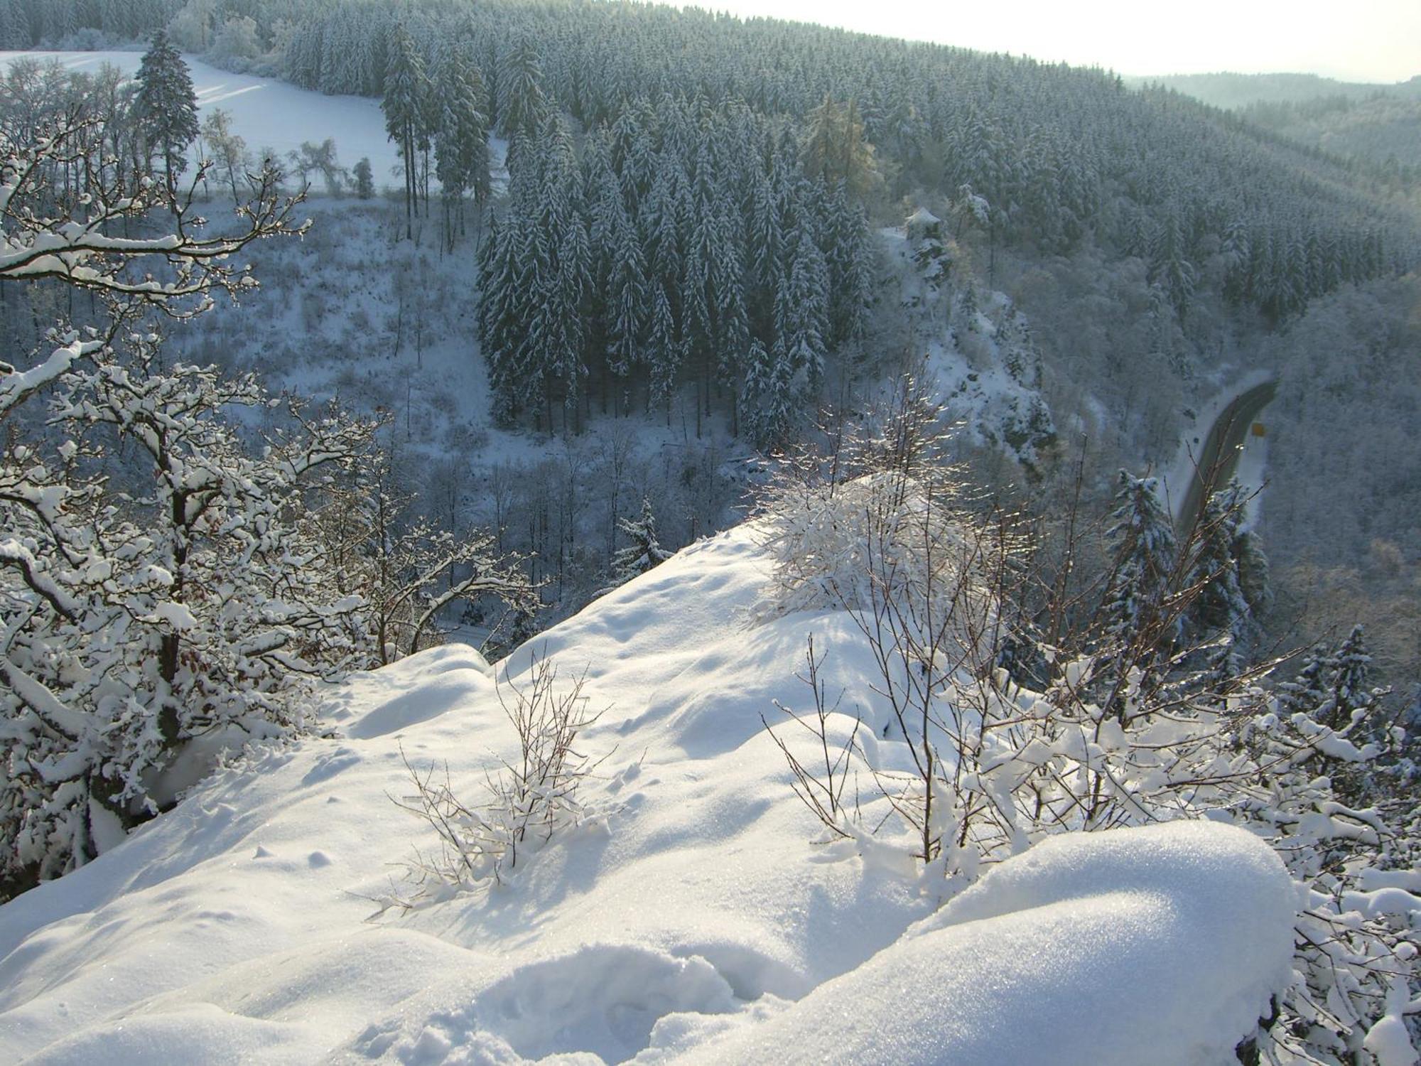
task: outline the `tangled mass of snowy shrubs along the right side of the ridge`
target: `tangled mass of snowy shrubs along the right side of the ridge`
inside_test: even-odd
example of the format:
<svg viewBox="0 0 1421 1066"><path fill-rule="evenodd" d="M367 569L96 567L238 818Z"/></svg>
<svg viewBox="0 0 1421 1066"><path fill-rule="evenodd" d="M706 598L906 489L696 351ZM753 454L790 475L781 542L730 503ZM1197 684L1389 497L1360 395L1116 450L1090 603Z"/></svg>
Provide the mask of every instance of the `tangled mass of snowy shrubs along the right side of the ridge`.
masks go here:
<svg viewBox="0 0 1421 1066"><path fill-rule="evenodd" d="M1401 738L1376 722L1357 654L1334 657L1316 699L1270 692L1273 662L1221 668L1229 625L1185 625L1218 580L1209 523L1178 544L1147 530L1131 517L1150 512L1137 499L1147 482L1125 479L1137 506L1104 523L1114 567L1081 594L1066 580L1070 546L1059 569L1034 566L1007 519L925 489L932 475L850 463L857 476L830 485L831 463L797 469L820 476L777 488L760 519L774 559L767 610L847 611L877 672L865 702L887 719L882 739L851 742L841 762L817 699L824 766L786 750L831 836L897 839L946 876L949 895L1056 833L1238 824L1273 844L1299 893L1296 981L1241 1057L1366 1063L1385 1048L1381 1062L1411 1060L1395 1056L1421 1011L1415 826L1404 793L1366 769ZM908 773L878 765L884 741L907 745L891 762ZM867 827L833 800L848 763L877 780L887 822Z"/></svg>

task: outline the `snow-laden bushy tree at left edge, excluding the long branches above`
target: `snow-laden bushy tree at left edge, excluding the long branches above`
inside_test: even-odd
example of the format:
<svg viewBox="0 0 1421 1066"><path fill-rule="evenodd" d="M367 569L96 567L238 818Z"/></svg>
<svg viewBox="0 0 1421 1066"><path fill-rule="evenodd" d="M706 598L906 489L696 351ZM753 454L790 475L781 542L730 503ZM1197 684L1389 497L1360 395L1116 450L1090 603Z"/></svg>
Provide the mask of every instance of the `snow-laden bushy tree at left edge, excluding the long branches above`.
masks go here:
<svg viewBox="0 0 1421 1066"><path fill-rule="evenodd" d="M192 752L300 729L311 681L371 650L310 516L372 424L296 409L254 453L225 416L271 402L254 379L163 368L141 335L92 362L55 381L50 434L9 443L0 472L11 877L117 843Z"/></svg>

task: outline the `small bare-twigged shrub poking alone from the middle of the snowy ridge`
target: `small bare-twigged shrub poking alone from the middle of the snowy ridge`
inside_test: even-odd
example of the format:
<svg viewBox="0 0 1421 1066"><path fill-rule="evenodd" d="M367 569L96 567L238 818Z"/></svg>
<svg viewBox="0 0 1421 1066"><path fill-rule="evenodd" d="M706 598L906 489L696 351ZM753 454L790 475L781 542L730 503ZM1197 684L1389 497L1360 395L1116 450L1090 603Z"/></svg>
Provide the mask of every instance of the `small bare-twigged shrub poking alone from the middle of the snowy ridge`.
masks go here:
<svg viewBox="0 0 1421 1066"><path fill-rule="evenodd" d="M503 883L554 836L597 816L578 796L583 780L607 758L591 759L576 748L581 732L603 715L588 709L584 679L577 675L560 687L557 667L534 654L526 684L499 687L519 752L485 776L480 803L455 790L448 769L441 780L435 766L421 773L406 759L415 792L395 802L433 827L441 851L416 854L409 863L412 898L389 905L416 907L449 891Z"/></svg>

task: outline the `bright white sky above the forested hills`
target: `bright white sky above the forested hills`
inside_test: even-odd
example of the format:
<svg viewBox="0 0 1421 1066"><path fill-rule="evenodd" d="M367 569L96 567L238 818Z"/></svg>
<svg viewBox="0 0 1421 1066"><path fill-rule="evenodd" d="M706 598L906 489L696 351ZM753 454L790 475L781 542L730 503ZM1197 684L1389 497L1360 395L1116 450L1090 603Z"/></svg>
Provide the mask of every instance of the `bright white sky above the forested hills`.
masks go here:
<svg viewBox="0 0 1421 1066"><path fill-rule="evenodd" d="M1421 74L1421 0L695 0L770 16L1108 67L1120 74Z"/></svg>

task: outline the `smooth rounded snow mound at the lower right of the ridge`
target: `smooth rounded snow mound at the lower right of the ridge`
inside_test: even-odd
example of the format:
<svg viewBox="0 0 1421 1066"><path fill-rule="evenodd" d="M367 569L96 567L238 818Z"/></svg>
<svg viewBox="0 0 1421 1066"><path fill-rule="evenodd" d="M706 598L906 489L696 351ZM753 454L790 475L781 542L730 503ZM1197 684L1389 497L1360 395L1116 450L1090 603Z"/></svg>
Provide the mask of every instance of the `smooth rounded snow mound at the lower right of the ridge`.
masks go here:
<svg viewBox="0 0 1421 1066"><path fill-rule="evenodd" d="M1292 951L1287 874L1242 830L1057 837L685 1062L1223 1063L1287 984Z"/></svg>

